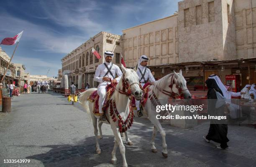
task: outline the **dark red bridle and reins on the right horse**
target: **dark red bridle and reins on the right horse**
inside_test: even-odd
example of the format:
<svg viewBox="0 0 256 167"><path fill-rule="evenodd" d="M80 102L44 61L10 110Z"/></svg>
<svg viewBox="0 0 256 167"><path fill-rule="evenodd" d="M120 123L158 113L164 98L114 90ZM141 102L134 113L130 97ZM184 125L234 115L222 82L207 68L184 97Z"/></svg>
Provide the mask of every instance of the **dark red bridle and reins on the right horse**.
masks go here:
<svg viewBox="0 0 256 167"><path fill-rule="evenodd" d="M184 91L187 91L188 89L182 90L181 87L179 86L178 82L177 82L177 79L174 77L174 74L173 74L173 75L172 75L171 84L169 85L169 88L171 88L171 90L172 90L172 87L173 87L174 84L176 85L175 87L178 89L179 94L176 94L176 93L174 93L173 91L172 91L172 92L169 92L169 91L166 91L166 90L164 90L164 89L161 90L161 89L159 89L157 86L156 86L156 88L157 88L161 93L163 93L163 94L165 94L165 95L167 95L167 96L169 96L169 97L172 97L172 98L176 98L177 96L184 97L184 96L183 96ZM182 95L182 96L181 96L181 95Z"/></svg>

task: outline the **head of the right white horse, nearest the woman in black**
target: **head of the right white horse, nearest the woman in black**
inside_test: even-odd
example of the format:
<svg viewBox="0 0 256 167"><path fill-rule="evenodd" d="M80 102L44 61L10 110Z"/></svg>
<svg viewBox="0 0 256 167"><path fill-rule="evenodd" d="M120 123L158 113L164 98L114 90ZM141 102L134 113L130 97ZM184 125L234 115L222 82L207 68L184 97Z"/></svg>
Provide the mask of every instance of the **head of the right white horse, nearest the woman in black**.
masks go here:
<svg viewBox="0 0 256 167"><path fill-rule="evenodd" d="M182 76L182 70L179 70L179 73L174 72L174 84L172 84L172 91L175 94L180 94L184 97L184 99L191 99L191 94L187 89L187 81ZM175 81L176 79L176 81Z"/></svg>

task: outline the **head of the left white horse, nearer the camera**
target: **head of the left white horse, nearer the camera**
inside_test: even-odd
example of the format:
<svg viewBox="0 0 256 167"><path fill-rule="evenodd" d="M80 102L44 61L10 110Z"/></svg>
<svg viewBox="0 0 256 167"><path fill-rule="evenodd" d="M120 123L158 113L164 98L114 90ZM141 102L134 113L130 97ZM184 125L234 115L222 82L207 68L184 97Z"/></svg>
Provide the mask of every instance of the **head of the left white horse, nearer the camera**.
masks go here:
<svg viewBox="0 0 256 167"><path fill-rule="evenodd" d="M131 94L135 97L136 100L141 100L143 91L140 87L139 77L136 71L133 69L125 68L121 65L121 69L123 71L122 83L126 85L126 89L131 89ZM122 89L122 88L121 88ZM128 90L125 90L128 91Z"/></svg>

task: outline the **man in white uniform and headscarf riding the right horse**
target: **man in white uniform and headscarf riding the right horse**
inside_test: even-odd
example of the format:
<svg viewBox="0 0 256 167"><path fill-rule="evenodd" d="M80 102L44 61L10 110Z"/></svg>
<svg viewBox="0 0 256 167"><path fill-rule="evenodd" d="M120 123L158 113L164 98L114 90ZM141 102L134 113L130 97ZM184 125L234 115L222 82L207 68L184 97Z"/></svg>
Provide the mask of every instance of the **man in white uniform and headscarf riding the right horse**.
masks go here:
<svg viewBox="0 0 256 167"><path fill-rule="evenodd" d="M146 55L142 55L138 60L138 69L137 74L139 76L139 81L141 86L143 87L148 80L154 85L156 81L154 76L152 75L150 69L147 68L148 57ZM140 108L140 101L136 100L136 108L138 111L138 116L143 116Z"/></svg>

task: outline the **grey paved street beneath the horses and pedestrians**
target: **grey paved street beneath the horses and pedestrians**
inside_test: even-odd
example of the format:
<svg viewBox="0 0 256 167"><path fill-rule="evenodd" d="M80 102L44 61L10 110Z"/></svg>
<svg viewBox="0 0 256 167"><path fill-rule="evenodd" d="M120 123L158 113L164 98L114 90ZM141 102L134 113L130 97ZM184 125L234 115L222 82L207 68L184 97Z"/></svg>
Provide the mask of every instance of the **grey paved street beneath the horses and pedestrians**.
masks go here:
<svg viewBox="0 0 256 167"><path fill-rule="evenodd" d="M103 124L101 154L96 154L90 115L77 103L71 105L60 94L22 94L12 100L12 112L0 113L0 167L120 167L111 164L114 137ZM133 146L125 143L125 156L131 167L256 167L256 129L228 126L228 150L206 143L209 123L192 129L163 125L168 158L161 155L161 136L156 137L157 153L151 152L153 125L135 119L128 131ZM30 163L4 163L4 159L30 159Z"/></svg>

